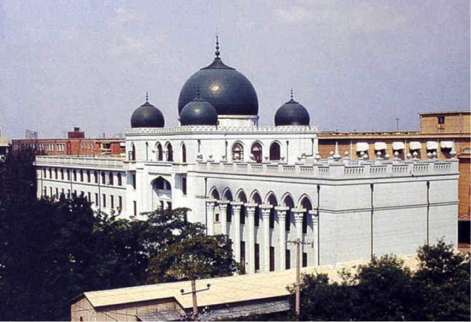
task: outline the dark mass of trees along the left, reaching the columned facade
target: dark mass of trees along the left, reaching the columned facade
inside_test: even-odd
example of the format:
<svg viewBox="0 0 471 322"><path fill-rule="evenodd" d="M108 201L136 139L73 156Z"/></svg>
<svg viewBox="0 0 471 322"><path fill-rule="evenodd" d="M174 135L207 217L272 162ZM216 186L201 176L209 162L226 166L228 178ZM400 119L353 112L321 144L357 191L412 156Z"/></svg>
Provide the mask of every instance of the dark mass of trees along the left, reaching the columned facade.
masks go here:
<svg viewBox="0 0 471 322"><path fill-rule="evenodd" d="M193 248L205 263L215 260L217 269L198 266L203 275L236 270L227 237L204 236L204 226L185 220L185 209L144 221L94 214L81 197L38 199L34 157L25 150L0 163L0 321L66 321L80 293L142 285L176 269L166 258L189 258ZM193 263L186 264L180 277L190 276Z"/></svg>

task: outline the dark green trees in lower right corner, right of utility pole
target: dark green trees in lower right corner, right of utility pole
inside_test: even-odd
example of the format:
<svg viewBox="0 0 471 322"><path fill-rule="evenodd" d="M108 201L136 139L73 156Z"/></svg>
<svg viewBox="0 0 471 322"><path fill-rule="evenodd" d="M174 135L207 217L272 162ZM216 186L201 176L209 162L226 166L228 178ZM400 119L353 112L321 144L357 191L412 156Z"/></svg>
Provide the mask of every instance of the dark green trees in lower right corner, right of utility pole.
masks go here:
<svg viewBox="0 0 471 322"><path fill-rule="evenodd" d="M418 258L415 272L386 255L341 271L339 283L326 274L303 276L301 321L470 321L469 255L439 240L421 247Z"/></svg>

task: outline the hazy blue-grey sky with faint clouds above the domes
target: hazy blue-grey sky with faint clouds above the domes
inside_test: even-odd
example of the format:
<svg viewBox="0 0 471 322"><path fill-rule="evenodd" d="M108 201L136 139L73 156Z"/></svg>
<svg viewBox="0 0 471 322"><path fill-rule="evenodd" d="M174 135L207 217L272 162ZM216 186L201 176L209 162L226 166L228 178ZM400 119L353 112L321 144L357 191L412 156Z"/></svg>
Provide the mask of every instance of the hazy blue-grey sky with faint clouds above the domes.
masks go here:
<svg viewBox="0 0 471 322"><path fill-rule="evenodd" d="M117 135L146 91L177 125L216 33L261 125L292 88L321 131L395 130L395 118L415 130L418 112L471 109L470 0L0 0L3 133Z"/></svg>

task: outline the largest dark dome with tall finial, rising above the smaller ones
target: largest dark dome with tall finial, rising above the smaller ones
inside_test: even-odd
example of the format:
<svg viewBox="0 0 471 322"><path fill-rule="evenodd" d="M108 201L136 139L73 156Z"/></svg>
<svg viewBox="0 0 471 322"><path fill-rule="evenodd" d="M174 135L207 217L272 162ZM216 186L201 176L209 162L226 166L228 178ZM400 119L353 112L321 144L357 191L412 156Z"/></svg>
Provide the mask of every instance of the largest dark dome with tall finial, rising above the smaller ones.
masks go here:
<svg viewBox="0 0 471 322"><path fill-rule="evenodd" d="M236 69L225 65L219 58L211 65L194 73L183 85L178 97L178 114L195 98L200 97L216 108L217 115L258 115L258 99L252 83Z"/></svg>

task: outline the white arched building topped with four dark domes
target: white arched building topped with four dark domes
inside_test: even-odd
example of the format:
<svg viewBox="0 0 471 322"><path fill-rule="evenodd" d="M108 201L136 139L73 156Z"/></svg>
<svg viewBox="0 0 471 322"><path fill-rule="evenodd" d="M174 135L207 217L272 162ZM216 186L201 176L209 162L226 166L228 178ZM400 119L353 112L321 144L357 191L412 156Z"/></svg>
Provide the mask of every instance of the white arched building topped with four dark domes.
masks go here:
<svg viewBox="0 0 471 322"><path fill-rule="evenodd" d="M87 197L139 215L188 207L208 234L228 234L248 273L415 253L457 243L458 161L401 160L378 150L321 159L317 128L291 99L258 124L251 82L216 57L183 85L179 126L146 102L126 129L126 156L38 156L38 197ZM379 144L378 144L379 146Z"/></svg>

